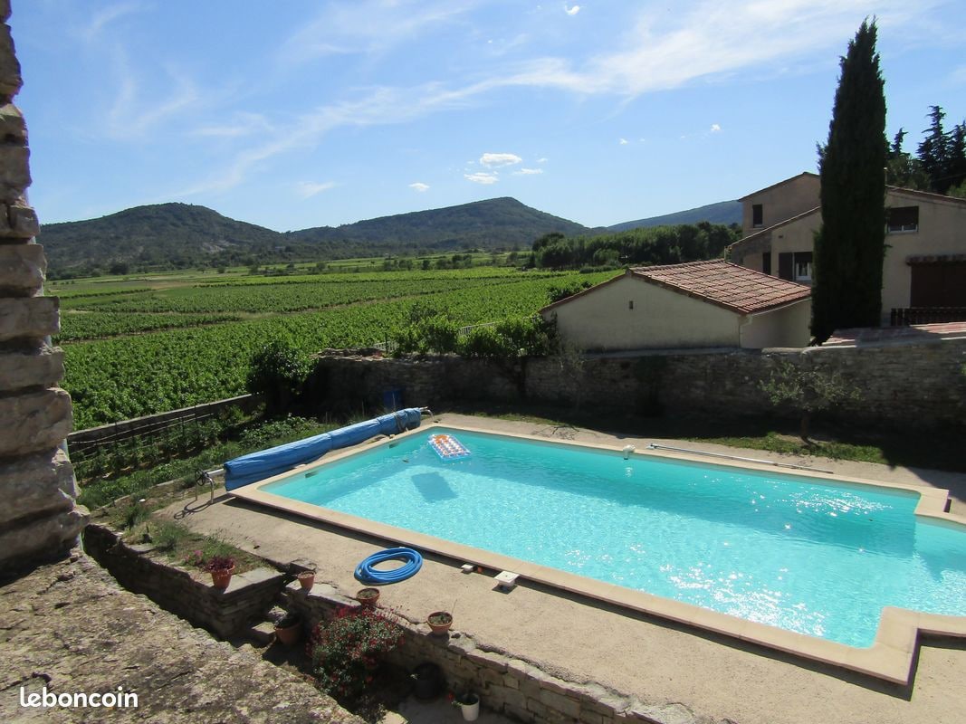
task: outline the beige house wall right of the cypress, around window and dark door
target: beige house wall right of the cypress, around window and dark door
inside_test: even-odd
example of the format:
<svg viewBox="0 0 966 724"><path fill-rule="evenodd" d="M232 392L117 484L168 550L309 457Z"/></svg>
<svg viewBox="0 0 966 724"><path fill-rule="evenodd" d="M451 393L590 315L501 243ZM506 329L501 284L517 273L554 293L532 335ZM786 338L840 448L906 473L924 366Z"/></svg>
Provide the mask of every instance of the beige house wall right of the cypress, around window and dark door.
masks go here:
<svg viewBox="0 0 966 724"><path fill-rule="evenodd" d="M966 254L966 204L944 197L928 200L916 194L889 190L886 206L919 207L916 231L886 234L886 260L882 266L882 313L885 320L894 307L911 306L910 256Z"/></svg>

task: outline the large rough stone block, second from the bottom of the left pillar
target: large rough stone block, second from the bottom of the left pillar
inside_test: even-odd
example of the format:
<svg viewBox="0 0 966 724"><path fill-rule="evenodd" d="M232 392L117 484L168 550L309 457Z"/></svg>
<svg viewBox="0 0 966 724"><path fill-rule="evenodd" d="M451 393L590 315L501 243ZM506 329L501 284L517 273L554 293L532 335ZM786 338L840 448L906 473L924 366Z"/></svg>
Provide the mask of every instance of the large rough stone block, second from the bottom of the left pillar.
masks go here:
<svg viewBox="0 0 966 724"><path fill-rule="evenodd" d="M0 465L0 528L27 515L69 511L76 496L71 461L58 448Z"/></svg>

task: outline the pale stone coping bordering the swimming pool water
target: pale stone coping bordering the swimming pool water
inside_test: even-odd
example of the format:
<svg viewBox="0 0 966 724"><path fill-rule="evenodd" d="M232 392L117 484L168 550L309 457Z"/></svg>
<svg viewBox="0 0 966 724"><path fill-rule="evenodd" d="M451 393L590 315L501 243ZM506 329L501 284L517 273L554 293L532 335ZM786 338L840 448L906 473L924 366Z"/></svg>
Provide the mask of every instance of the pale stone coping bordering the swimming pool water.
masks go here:
<svg viewBox="0 0 966 724"><path fill-rule="evenodd" d="M390 435L383 439L378 439L362 447L354 447L348 450L330 453L325 458L314 460L305 465L298 465L293 470L288 470L285 473L232 490L230 494L242 500L322 521L330 525L354 531L355 533L374 536L395 544L412 545L422 551L436 553L459 563L469 563L492 571L514 571L520 575L520 582L530 580L578 596L601 600L611 605L672 621L685 627L693 627L702 631L721 634L729 638L735 638L768 649L774 649L785 654L818 661L823 664L848 669L876 679L902 685L907 685L911 681L913 662L916 660L921 634L955 638L966 637L966 616L943 616L886 606L883 608L882 617L880 618L873 644L868 648L847 646L766 624L745 621L691 603L654 596L616 584L587 578L576 573L529 563L521 559L472 547L463 543L444 541L434 536L369 520L368 518L340 513L314 504L302 503L261 489L262 487L290 476L301 467L325 465L340 459L351 458L362 452L392 445L400 439L432 431L433 429L456 432L478 432L509 439L535 441L544 445L562 448L576 446L605 451L616 455L625 455L625 449L613 445L548 440L546 437L536 435L493 432L491 430L482 430L466 425L433 423L410 432L403 432L398 435ZM700 455L689 455L676 451L670 454L645 449L634 450L626 454L637 458L686 460L711 467L736 467L746 470L752 469L759 472L768 472L770 474L778 473L781 476L803 478L812 483L826 482L830 484L834 483L837 486L846 485L904 490L919 496L919 503L916 506L914 515L943 521L945 524L952 525L953 527L963 528L963 532L966 533L966 516L953 515L946 512L949 491L941 488L888 483L807 469L776 469L772 465L749 462L747 459L743 459L740 463L726 459L715 459L711 461L702 458Z"/></svg>

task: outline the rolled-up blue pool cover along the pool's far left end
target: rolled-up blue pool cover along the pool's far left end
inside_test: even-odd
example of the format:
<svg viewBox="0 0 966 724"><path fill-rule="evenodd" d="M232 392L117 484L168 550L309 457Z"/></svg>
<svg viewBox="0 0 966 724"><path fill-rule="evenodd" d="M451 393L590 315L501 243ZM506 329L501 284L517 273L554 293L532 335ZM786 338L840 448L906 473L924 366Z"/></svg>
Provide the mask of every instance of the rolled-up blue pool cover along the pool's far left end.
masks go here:
<svg viewBox="0 0 966 724"><path fill-rule="evenodd" d="M304 440L242 455L225 463L225 489L234 490L272 475L284 473L298 464L321 458L330 450L346 448L380 434L397 434L419 427L421 413L418 407L390 412L386 415L355 423L348 428L323 432Z"/></svg>

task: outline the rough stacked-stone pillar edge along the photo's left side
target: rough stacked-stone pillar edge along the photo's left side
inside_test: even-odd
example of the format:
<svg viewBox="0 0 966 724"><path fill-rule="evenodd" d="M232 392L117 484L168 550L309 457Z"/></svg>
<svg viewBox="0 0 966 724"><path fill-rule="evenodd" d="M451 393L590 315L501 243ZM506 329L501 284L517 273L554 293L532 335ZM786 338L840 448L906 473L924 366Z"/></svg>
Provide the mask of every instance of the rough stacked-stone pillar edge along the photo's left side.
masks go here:
<svg viewBox="0 0 966 724"><path fill-rule="evenodd" d="M30 150L13 103L22 80L10 10L0 0L0 571L65 553L87 522L61 449L71 398L57 387L64 354L50 335L60 325L58 300L43 295L46 260L26 198Z"/></svg>

